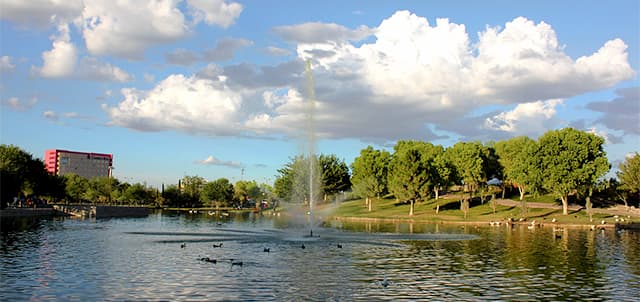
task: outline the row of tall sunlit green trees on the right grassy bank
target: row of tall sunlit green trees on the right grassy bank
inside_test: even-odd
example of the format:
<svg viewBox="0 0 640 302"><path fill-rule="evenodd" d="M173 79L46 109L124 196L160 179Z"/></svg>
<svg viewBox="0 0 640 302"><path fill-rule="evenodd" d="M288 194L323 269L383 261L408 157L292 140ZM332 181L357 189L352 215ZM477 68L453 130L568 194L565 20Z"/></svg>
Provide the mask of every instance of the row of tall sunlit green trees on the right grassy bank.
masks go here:
<svg viewBox="0 0 640 302"><path fill-rule="evenodd" d="M432 197L438 211L439 193L452 186L468 192L462 195L460 208L467 214L469 201L498 187L503 194L517 189L525 194L555 195L568 214L569 199L584 201L587 209L592 198L600 201L638 201L640 157L636 152L619 166L618 179L604 179L609 172L604 139L573 128L552 130L538 140L515 137L505 141L458 142L449 148L422 141L398 141L393 154L371 146L361 150L352 165L353 192L371 200L387 194L410 203ZM480 193L480 194L478 194ZM478 196L479 195L479 196Z"/></svg>

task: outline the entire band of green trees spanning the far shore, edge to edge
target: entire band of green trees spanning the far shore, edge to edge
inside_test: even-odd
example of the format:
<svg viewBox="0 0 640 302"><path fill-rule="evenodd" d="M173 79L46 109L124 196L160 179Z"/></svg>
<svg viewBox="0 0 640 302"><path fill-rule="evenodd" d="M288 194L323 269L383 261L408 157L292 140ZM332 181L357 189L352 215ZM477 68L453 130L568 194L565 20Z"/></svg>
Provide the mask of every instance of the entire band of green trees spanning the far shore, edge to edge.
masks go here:
<svg viewBox="0 0 640 302"><path fill-rule="evenodd" d="M345 193L363 198L372 209L375 199L394 197L409 204L434 198L436 212L443 192L460 188L460 208L466 214L470 202L481 202L493 194L553 194L568 213L572 202L640 199L640 156L636 152L619 165L617 178L605 179L611 165L603 150L604 140L573 128L551 130L537 140L522 136L498 142L458 142L450 147L425 141L398 141L393 152L368 146L348 166L335 155L290 159L278 170L273 187L226 178L207 181L185 176L178 184L162 190L143 184L129 184L115 178L91 180L77 175L55 176L44 163L16 146L0 146L1 198L35 194L74 202L140 203L168 207L248 206L268 199L294 202L327 201ZM310 191L310 188L314 188Z"/></svg>

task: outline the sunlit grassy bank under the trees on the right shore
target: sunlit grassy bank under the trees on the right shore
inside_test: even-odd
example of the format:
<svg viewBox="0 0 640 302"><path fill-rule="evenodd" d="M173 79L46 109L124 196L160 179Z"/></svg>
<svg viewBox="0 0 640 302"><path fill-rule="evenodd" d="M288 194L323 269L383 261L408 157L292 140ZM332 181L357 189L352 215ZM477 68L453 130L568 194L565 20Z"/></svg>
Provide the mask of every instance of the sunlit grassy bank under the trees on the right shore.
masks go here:
<svg viewBox="0 0 640 302"><path fill-rule="evenodd" d="M549 201L549 197L536 199L535 202ZM528 200L533 201L533 200ZM551 221L556 218L558 223L563 224L599 224L601 220L606 220L613 224L613 215L594 214L593 221L590 221L586 211L570 211L568 215L562 215L561 209L541 209L529 207L527 213L522 213L519 206L496 206L496 212L489 202L481 204L474 200L471 204L467 218L460 210L460 202L454 199L440 199L440 211L436 214L436 201L434 199L417 202L414 207L414 215L409 216L409 203L398 203L395 199L374 199L372 211L369 212L365 206L364 199L342 202L333 212L334 217L356 217L356 218L381 218L381 219L411 219L424 222L478 222L504 221L509 218L518 220L525 218L527 221L536 220L538 222ZM554 200L555 202L555 200ZM628 220L627 220L628 221ZM640 222L640 218L632 217L631 221Z"/></svg>

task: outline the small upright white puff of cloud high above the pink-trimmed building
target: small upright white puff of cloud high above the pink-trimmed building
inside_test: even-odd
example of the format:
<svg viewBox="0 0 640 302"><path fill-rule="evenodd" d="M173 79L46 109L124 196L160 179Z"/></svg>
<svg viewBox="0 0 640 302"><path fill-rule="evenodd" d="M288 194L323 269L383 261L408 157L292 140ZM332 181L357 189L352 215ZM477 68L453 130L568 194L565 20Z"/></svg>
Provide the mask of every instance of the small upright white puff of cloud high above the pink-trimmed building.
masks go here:
<svg viewBox="0 0 640 302"><path fill-rule="evenodd" d="M77 50L69 37L69 26L58 26L59 35L52 37L53 48L42 53L43 65L35 70L45 78L61 78L73 73L77 64Z"/></svg>

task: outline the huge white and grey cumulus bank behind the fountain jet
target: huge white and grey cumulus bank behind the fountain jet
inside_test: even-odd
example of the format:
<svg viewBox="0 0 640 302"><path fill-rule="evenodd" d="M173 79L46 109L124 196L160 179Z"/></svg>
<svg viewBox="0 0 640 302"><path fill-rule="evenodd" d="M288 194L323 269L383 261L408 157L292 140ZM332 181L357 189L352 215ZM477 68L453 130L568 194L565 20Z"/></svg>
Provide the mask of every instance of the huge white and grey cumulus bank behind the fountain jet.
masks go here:
<svg viewBox="0 0 640 302"><path fill-rule="evenodd" d="M522 17L487 27L477 41L463 24L430 23L407 11L372 29L305 23L274 31L297 43L295 60L209 64L149 91L123 90L124 100L107 108L113 123L207 135L295 136L311 114L313 89L314 130L321 137L384 143L443 133L538 135L559 123L555 112L562 99L634 76L622 40L603 41L595 53L573 59L551 25ZM230 105L212 118L221 100ZM512 109L471 114L486 112L486 106Z"/></svg>

